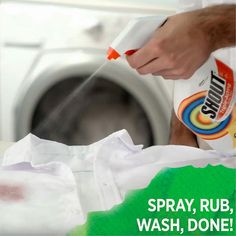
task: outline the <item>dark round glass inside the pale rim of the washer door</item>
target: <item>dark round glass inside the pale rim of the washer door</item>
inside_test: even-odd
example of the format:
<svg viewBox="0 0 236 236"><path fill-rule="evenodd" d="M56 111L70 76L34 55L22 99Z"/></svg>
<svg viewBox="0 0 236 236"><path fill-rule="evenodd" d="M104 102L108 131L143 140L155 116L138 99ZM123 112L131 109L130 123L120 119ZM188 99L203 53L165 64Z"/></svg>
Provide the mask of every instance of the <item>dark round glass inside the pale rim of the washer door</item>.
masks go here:
<svg viewBox="0 0 236 236"><path fill-rule="evenodd" d="M135 144L154 144L149 119L134 96L102 77L80 90L85 78L65 79L42 96L32 118L33 134L67 145L88 145L126 129Z"/></svg>

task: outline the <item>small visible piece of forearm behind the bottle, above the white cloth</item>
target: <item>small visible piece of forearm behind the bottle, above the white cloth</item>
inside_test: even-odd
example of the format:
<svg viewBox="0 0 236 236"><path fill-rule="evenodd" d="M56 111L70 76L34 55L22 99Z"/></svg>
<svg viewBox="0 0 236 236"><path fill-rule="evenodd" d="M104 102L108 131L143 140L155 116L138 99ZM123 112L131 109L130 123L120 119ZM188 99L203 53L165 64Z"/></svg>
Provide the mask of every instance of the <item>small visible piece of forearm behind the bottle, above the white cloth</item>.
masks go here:
<svg viewBox="0 0 236 236"><path fill-rule="evenodd" d="M196 136L172 113L170 144L198 147Z"/></svg>

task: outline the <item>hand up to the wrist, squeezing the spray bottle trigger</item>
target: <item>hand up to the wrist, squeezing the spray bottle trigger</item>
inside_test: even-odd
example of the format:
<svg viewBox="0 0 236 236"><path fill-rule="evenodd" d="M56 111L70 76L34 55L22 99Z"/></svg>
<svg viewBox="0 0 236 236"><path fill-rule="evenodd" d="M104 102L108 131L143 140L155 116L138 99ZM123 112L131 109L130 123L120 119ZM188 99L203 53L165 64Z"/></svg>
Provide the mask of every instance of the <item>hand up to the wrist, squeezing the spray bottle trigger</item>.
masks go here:
<svg viewBox="0 0 236 236"><path fill-rule="evenodd" d="M190 78L214 50L199 12L171 16L144 47L127 57L129 65L141 75Z"/></svg>

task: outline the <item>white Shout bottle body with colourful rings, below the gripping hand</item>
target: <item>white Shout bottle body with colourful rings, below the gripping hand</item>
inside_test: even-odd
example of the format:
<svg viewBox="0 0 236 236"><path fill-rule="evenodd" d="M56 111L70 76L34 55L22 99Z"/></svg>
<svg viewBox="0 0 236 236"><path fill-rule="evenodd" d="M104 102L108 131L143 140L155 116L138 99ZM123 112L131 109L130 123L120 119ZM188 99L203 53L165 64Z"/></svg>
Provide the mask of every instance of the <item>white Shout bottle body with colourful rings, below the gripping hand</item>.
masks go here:
<svg viewBox="0 0 236 236"><path fill-rule="evenodd" d="M175 83L177 117L215 150L236 148L234 76L231 68L209 58L189 80Z"/></svg>

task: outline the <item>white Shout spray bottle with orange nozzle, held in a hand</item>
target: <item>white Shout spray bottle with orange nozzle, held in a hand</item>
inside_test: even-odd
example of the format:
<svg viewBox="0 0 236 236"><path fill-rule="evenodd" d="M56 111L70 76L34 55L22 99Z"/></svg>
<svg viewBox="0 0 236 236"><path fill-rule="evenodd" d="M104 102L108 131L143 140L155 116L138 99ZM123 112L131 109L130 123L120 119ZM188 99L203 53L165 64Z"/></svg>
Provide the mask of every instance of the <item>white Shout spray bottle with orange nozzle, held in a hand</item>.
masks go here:
<svg viewBox="0 0 236 236"><path fill-rule="evenodd" d="M164 16L131 20L113 41L107 58L132 55L166 22ZM236 76L220 60L210 56L188 80L176 80L174 110L196 136L218 151L236 148Z"/></svg>

